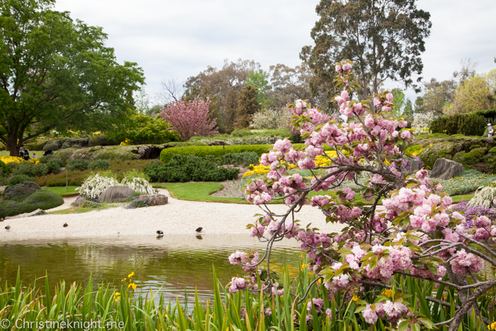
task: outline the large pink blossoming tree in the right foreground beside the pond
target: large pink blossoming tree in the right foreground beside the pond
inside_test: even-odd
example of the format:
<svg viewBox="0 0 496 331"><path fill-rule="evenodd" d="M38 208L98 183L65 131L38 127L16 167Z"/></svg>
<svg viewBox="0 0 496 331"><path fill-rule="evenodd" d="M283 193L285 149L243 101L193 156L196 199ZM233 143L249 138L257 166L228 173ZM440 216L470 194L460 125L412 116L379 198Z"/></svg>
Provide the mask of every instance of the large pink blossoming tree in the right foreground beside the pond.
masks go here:
<svg viewBox="0 0 496 331"><path fill-rule="evenodd" d="M278 140L262 155L260 163L270 166L271 172L249 182L246 193L247 200L263 211L248 225L249 234L266 242L267 249L263 255L235 252L230 256L231 264L239 264L251 274L233 278L229 289L280 294L279 284L266 272L270 270L271 247L284 238L295 238L308 255L309 269L317 275L312 285L320 279L330 293L392 289L393 296L373 291L378 293L373 301L360 302L357 311L367 323L375 324L378 319L398 322L400 330L434 327L416 306L409 305L409 293L389 285L393 276L401 275L427 279L455 291L461 305L456 306L453 318L436 326L458 330L467 314L481 316L478 298L496 285L495 279L476 276L484 264L496 267L496 253L490 247L496 241L495 226L485 215L478 215L473 220L475 228L465 230L465 218L451 210L453 201L441 184L429 179L424 169L413 174L405 170L408 159L402 151L413 138L405 128L407 122L390 114L393 95L388 92L373 101L351 99L354 89L359 89L351 65L349 61L336 65L336 82L342 92L334 100L339 113L349 118L347 123L331 120L322 124L322 113L297 101L291 106L291 123L305 138L305 149L296 150L290 141ZM317 156L329 157L324 144L337 156L329 158L329 166L316 167ZM312 176L288 174L290 164L310 170ZM359 174L361 178L366 174L365 183L359 181ZM346 187L349 181L360 189ZM309 196L320 191L328 193ZM275 200L286 203L285 213L271 210L268 203ZM342 224L342 231L329 234L300 228L295 218L304 205L319 208L326 222ZM426 299L450 305L439 298ZM320 300L312 299L309 305L319 308Z"/></svg>

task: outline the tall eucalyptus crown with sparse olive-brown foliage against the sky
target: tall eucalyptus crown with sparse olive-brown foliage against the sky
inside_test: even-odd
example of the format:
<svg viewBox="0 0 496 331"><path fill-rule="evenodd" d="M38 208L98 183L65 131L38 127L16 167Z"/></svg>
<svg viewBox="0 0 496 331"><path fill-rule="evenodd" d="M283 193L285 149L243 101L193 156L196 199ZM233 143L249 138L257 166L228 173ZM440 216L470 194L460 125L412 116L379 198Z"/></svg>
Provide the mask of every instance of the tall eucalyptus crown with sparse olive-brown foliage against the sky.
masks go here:
<svg viewBox="0 0 496 331"><path fill-rule="evenodd" d="M420 54L432 24L415 0L321 0L316 11L315 47L305 46L300 54L315 71L312 91L327 86L333 93L328 87L334 63L342 59L355 63L362 99L378 93L386 79L417 89L411 76L422 74Z"/></svg>

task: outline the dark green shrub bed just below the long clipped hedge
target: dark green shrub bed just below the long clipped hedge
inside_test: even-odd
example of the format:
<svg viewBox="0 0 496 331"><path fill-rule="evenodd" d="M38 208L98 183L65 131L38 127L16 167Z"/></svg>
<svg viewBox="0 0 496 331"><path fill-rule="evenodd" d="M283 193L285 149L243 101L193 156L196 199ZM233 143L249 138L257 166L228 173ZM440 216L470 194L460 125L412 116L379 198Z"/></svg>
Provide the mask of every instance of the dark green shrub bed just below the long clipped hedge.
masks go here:
<svg viewBox="0 0 496 331"><path fill-rule="evenodd" d="M152 164L145 174L155 182L225 181L235 179L239 169L218 167L218 159L208 155L173 155L167 164Z"/></svg>

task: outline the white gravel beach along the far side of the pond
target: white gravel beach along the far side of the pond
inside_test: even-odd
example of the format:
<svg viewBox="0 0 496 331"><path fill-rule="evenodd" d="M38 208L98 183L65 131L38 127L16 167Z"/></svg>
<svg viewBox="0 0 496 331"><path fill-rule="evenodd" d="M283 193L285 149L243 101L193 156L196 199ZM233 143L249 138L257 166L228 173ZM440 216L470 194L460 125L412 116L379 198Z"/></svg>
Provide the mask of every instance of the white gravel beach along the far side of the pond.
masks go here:
<svg viewBox="0 0 496 331"><path fill-rule="evenodd" d="M161 189L159 193L169 196L167 205L4 220L0 223L0 240L150 236L157 230L164 235L193 235L198 227L203 227L204 236L248 235L246 225L254 223L253 215L260 213L253 205L182 201L171 198L167 190ZM52 210L69 208L74 199L65 198L64 205ZM276 213L286 208L271 206ZM336 232L343 226L326 224L322 213L310 206L304 206L297 219L303 227L312 223L312 227L324 232ZM68 224L67 228L62 226L64 223ZM6 225L11 229L5 230Z"/></svg>

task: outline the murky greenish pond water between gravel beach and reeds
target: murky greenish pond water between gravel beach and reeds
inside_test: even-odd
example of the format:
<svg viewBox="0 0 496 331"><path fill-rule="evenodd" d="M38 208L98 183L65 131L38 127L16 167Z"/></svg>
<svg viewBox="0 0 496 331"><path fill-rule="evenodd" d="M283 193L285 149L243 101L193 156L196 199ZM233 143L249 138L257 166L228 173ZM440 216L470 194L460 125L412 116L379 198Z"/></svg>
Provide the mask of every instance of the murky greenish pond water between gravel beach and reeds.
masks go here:
<svg viewBox="0 0 496 331"><path fill-rule="evenodd" d="M201 299L212 298L213 266L222 284L232 276L242 276L239 266L227 257L235 250L264 250L264 244L247 235L113 237L97 239L26 240L0 245L0 275L4 284L16 281L18 267L21 279L32 283L48 273L50 287L59 281L76 281L86 285L91 276L94 284L120 286L121 280L135 273L137 291L162 291L165 298L184 298L198 288ZM271 261L278 269L288 266L293 276L298 272L300 251L293 240L274 245ZM45 281L38 281L44 285ZM53 288L53 287L52 287Z"/></svg>

